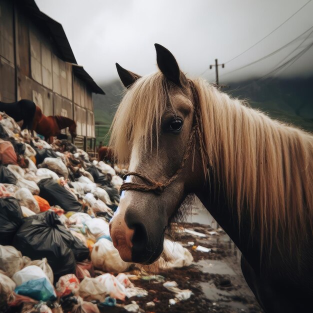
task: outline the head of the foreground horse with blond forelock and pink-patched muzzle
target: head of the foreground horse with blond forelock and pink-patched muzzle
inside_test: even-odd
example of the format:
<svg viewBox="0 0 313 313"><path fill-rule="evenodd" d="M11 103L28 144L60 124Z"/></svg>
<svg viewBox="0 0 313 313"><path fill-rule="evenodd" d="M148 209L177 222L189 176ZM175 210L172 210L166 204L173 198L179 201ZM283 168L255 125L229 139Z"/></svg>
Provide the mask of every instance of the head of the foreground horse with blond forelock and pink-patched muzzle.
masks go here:
<svg viewBox="0 0 313 313"><path fill-rule="evenodd" d="M160 71L140 77L116 64L127 92L115 114L111 146L129 163L110 234L121 258L150 264L187 194L204 184L198 95L174 56L155 44Z"/></svg>

